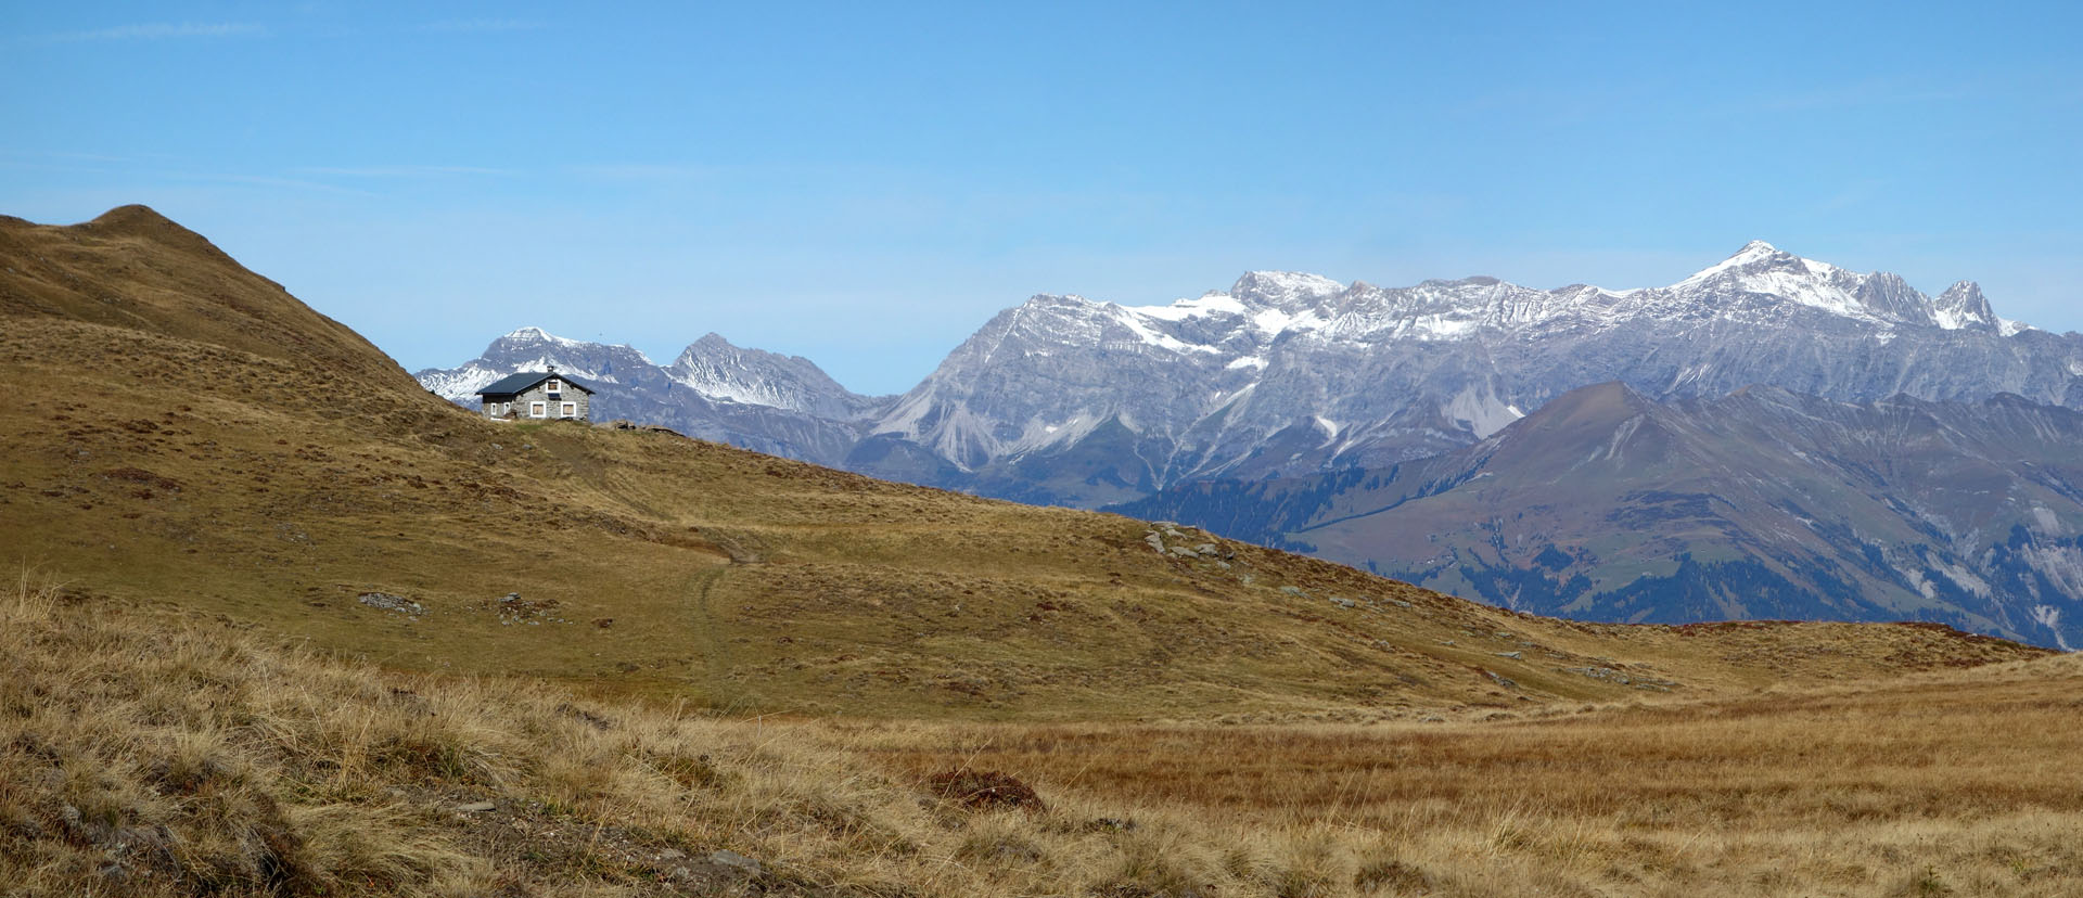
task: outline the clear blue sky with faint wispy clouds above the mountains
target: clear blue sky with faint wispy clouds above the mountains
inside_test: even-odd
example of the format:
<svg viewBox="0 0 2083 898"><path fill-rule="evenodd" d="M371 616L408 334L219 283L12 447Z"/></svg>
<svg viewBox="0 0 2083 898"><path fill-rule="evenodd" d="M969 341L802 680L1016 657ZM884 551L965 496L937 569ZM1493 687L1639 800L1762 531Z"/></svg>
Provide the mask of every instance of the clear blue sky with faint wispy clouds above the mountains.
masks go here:
<svg viewBox="0 0 2083 898"><path fill-rule="evenodd" d="M406 369L719 331L900 392L1037 292L1754 238L2083 329L2075 4L1002 6L6 2L0 213L146 202Z"/></svg>

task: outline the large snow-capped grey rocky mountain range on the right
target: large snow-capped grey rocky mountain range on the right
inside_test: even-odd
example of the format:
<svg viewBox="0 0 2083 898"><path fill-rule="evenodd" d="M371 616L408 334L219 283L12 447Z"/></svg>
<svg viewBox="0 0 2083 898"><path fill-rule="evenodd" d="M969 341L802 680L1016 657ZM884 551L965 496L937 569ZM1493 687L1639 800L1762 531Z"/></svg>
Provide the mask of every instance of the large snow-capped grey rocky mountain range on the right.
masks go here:
<svg viewBox="0 0 2083 898"><path fill-rule="evenodd" d="M2004 321L1968 281L1931 298L1764 242L1641 290L1491 277L1383 290L1260 271L1169 306L1035 296L871 431L998 494L1094 504L1429 456L1610 379L1652 398L1775 383L1841 400L2010 392L2083 406L2083 338ZM1089 440L1119 465L1094 471ZM1064 481L1056 460L1079 475Z"/></svg>

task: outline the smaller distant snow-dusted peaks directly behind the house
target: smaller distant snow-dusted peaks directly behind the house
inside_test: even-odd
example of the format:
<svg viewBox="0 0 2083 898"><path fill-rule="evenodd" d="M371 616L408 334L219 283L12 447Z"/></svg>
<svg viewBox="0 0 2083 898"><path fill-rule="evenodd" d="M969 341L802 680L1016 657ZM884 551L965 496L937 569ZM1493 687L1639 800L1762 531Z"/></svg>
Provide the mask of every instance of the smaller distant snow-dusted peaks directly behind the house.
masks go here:
<svg viewBox="0 0 2083 898"><path fill-rule="evenodd" d="M421 385L477 408L477 390L517 371L558 371L600 392L594 419L629 419L758 452L839 467L864 419L887 398L848 392L808 358L746 350L710 333L660 367L629 346L564 340L523 327L454 369L417 373Z"/></svg>

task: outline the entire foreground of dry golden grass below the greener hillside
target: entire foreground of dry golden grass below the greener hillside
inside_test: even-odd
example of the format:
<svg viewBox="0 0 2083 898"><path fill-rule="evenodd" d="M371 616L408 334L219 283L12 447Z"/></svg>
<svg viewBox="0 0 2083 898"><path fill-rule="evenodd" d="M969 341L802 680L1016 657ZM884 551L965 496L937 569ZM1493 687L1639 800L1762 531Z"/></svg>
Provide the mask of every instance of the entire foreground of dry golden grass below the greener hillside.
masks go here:
<svg viewBox="0 0 2083 898"><path fill-rule="evenodd" d="M1435 725L719 719L0 594L8 894L2068 896L2083 658ZM935 800L1008 771L1042 810ZM458 810L490 802L490 810ZM712 860L731 850L756 873Z"/></svg>

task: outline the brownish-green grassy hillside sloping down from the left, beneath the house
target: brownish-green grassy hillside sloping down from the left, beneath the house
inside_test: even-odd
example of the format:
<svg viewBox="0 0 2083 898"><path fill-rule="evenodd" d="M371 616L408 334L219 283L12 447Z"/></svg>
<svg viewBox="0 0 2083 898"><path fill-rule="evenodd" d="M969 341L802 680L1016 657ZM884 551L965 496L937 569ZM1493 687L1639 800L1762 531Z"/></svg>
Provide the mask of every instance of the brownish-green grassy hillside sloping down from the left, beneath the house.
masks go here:
<svg viewBox="0 0 2083 898"><path fill-rule="evenodd" d="M1121 517L490 423L142 206L8 219L0 269L0 375L25 388L0 540L85 592L390 667L748 710L1150 719L1414 717L2035 654L1921 627L1546 621Z"/></svg>

